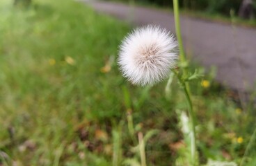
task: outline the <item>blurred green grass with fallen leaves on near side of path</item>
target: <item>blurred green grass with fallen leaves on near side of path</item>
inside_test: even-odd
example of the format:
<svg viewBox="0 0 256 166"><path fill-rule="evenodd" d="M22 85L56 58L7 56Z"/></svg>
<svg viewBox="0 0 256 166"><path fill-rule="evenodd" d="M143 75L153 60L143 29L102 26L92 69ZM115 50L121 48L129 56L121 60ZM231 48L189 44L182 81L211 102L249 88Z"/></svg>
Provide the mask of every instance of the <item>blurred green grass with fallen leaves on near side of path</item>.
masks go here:
<svg viewBox="0 0 256 166"><path fill-rule="evenodd" d="M69 0L29 8L3 0L0 15L0 165L135 165L137 133L147 165L186 162L177 81L166 96L166 82L132 86L118 71L131 27ZM212 77L191 85L200 161L239 163L254 118Z"/></svg>

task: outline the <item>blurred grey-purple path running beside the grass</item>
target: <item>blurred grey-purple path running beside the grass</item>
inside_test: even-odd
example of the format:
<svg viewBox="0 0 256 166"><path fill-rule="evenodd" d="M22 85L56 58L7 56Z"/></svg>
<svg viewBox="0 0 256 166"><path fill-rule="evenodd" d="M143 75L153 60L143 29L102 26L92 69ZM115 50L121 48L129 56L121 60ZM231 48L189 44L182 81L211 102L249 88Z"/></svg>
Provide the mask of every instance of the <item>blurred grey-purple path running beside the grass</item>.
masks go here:
<svg viewBox="0 0 256 166"><path fill-rule="evenodd" d="M172 12L102 1L86 3L99 12L136 26L156 24L175 33ZM216 80L232 89L255 89L256 29L232 28L227 24L190 17L181 17L181 26L187 55L207 68L216 66Z"/></svg>

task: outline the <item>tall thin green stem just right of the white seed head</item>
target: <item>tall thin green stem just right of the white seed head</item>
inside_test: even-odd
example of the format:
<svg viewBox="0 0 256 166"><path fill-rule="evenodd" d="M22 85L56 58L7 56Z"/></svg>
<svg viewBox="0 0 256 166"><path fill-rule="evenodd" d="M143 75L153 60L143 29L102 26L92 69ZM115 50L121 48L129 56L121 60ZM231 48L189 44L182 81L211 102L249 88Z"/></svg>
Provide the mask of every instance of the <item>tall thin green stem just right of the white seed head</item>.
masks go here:
<svg viewBox="0 0 256 166"><path fill-rule="evenodd" d="M179 21L179 3L178 0L173 0L173 9L174 9L174 17L175 17L175 30L176 30L176 37L179 44L179 55L180 55L180 62L181 64L186 63L186 57L184 55L184 48L182 43L182 35L181 35L181 29L180 29L180 21ZM177 75L177 73L176 73ZM179 77L179 82L182 84L182 88L184 90L184 94L186 96L186 100L189 104L189 120L191 122L191 161L193 165L195 165L196 160L196 142L195 142L195 118L193 115L193 104L191 102L191 95L189 92L189 84L188 82L185 82L182 77L187 77L187 71L186 67L183 68L182 71L182 77Z"/></svg>

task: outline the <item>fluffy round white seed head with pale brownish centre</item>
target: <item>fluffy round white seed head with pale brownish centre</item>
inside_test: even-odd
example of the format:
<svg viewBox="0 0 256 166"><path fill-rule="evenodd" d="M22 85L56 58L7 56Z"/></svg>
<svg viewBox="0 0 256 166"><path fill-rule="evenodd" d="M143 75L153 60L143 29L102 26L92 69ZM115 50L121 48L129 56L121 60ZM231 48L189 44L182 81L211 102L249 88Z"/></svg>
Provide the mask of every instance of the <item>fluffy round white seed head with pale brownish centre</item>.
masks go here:
<svg viewBox="0 0 256 166"><path fill-rule="evenodd" d="M118 64L133 84L155 84L168 77L175 67L177 42L159 26L137 28L120 46Z"/></svg>

